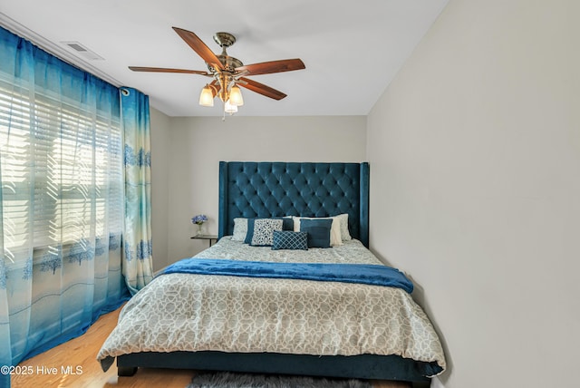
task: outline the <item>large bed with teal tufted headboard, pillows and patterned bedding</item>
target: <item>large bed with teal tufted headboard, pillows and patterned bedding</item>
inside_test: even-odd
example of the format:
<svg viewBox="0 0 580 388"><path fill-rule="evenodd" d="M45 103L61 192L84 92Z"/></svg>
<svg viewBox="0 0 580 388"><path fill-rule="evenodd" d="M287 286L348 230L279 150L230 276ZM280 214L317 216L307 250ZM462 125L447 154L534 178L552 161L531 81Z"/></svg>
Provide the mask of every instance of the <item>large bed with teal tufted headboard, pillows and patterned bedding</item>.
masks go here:
<svg viewBox="0 0 580 388"><path fill-rule="evenodd" d="M262 276L384 267L368 249L368 199L368 163L220 162L218 243L131 298L98 354L103 370L116 358L120 375L162 367L425 383L443 373L439 338L399 271L389 268L402 276L389 286ZM275 228L275 238L310 238L317 232L300 230L323 224L343 227L333 230L332 247L274 249L256 240L261 228ZM230 272L203 275L201 265Z"/></svg>

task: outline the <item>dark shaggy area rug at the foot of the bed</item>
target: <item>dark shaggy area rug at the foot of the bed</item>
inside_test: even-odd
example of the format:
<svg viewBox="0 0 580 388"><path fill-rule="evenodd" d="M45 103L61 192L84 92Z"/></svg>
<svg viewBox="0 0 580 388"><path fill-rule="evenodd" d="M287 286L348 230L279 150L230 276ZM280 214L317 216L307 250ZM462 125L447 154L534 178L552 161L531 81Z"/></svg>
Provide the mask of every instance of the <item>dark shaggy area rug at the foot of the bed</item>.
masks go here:
<svg viewBox="0 0 580 388"><path fill-rule="evenodd" d="M254 373L199 373L187 388L372 388L364 380Z"/></svg>

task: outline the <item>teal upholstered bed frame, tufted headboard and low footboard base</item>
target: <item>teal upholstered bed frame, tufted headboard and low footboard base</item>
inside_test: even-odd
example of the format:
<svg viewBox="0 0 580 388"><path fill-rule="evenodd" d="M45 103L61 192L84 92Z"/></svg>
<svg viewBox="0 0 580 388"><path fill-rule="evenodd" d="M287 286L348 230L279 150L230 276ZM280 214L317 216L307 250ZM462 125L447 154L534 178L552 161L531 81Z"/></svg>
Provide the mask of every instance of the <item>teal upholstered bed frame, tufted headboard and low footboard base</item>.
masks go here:
<svg viewBox="0 0 580 388"><path fill-rule="evenodd" d="M234 218L288 215L326 217L348 213L353 238L369 247L369 164L316 162L219 162L218 238L231 235ZM398 355L239 354L172 352L117 357L119 375L138 367L286 373L411 382L429 386L424 377L439 366Z"/></svg>

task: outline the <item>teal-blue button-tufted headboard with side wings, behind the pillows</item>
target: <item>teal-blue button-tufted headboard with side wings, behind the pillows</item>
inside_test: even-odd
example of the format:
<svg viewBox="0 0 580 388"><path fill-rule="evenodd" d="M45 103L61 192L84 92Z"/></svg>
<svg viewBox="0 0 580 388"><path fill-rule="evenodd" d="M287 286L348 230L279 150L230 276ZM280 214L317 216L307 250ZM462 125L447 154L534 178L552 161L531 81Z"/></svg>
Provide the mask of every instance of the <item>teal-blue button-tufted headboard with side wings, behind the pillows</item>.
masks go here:
<svg viewBox="0 0 580 388"><path fill-rule="evenodd" d="M353 238L369 247L369 163L219 162L218 237L234 218L348 213Z"/></svg>

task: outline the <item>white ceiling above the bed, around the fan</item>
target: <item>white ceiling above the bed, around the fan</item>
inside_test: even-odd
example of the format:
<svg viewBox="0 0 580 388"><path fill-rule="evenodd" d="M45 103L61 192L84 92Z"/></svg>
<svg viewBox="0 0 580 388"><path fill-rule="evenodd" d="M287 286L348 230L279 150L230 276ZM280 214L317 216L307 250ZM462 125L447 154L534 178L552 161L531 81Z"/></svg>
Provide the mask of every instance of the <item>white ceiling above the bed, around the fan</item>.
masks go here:
<svg viewBox="0 0 580 388"><path fill-rule="evenodd" d="M301 58L304 70L248 76L285 92L275 101L243 89L237 115L366 115L448 0L11 0L0 24L116 86L150 96L169 116L220 116L198 105L208 78L135 73L128 66L207 70L172 26L194 32L214 53L213 34L237 37L227 53L245 64ZM63 42L102 60L86 60Z"/></svg>

